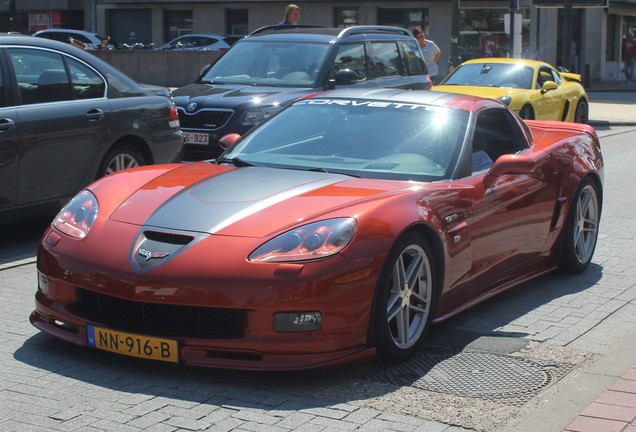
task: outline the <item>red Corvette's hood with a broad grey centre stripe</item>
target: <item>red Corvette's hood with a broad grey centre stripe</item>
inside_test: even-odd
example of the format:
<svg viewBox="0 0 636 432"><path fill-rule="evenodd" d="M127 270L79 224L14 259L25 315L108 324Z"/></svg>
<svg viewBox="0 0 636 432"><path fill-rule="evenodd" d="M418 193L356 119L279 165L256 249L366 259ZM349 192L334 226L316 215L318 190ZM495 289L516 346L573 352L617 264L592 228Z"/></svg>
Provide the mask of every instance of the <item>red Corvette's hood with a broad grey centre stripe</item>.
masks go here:
<svg viewBox="0 0 636 432"><path fill-rule="evenodd" d="M405 188L401 182L340 174L205 162L181 165L155 178L139 174L140 179L133 171L108 188L94 189L100 202L121 194L110 220L243 237L263 237L313 218L350 216L351 206ZM117 173L107 177L116 180ZM124 195L124 187L135 192Z"/></svg>

